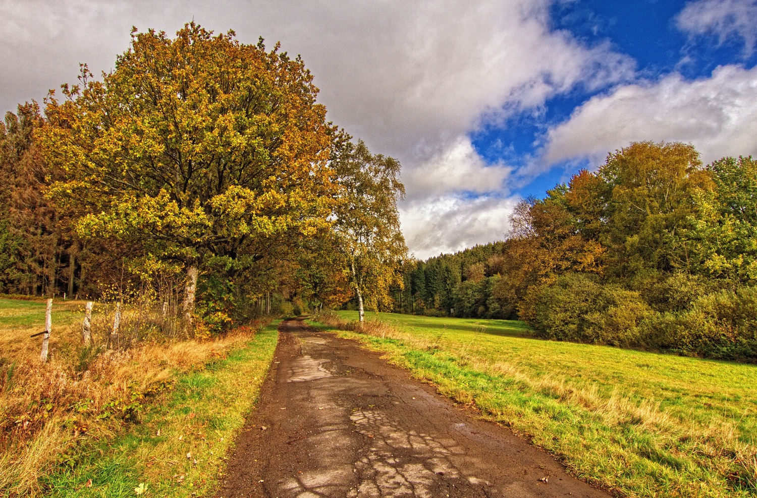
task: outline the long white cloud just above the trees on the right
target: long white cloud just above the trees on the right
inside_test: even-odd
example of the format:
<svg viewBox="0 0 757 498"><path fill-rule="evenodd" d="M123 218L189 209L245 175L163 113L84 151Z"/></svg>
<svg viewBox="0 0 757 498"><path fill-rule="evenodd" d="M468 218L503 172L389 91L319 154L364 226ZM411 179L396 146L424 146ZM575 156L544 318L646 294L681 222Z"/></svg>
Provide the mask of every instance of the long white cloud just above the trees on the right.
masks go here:
<svg viewBox="0 0 757 498"><path fill-rule="evenodd" d="M632 141L693 144L702 160L757 155L757 67L723 66L687 81L674 73L592 97L547 132L544 163L601 162Z"/></svg>

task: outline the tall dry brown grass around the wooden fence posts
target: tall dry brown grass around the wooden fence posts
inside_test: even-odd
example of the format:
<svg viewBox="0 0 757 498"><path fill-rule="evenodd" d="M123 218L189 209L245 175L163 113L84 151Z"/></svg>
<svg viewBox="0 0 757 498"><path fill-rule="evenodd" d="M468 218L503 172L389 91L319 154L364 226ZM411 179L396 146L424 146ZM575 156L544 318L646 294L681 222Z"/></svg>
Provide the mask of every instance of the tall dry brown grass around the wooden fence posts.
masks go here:
<svg viewBox="0 0 757 498"><path fill-rule="evenodd" d="M176 375L226 357L257 330L247 326L220 339L180 342L148 334L146 341L131 342L131 348L105 350L105 312L97 318L98 333L93 317L97 342L84 348L79 318L74 320L83 303L67 307L58 308L58 320L54 316L48 363L39 360L39 344L29 345L28 334L39 328L37 323L0 328L2 344L14 345L4 348L0 359L0 495L39 493L39 478L73 462L79 444L111 437L124 423L139 419L143 404L170 388ZM129 326L128 317L124 323Z"/></svg>

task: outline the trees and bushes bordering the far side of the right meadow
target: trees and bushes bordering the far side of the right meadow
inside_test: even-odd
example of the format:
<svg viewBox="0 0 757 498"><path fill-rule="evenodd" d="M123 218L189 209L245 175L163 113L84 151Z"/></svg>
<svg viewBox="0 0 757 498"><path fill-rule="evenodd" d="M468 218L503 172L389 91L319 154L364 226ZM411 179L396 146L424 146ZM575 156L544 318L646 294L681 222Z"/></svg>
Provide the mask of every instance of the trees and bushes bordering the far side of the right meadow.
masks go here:
<svg viewBox="0 0 757 498"><path fill-rule="evenodd" d="M757 161L639 142L544 199L507 240L403 265L394 311L519 318L538 336L757 360Z"/></svg>

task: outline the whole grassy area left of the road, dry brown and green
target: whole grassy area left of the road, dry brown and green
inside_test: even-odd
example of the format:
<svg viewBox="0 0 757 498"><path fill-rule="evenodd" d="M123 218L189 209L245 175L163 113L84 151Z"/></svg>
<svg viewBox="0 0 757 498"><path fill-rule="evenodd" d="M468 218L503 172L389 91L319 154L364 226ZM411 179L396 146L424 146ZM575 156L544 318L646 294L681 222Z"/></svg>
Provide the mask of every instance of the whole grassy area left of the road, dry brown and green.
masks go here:
<svg viewBox="0 0 757 498"><path fill-rule="evenodd" d="M113 306L95 304L90 347L83 308L56 300L42 363L41 337L30 335L44 328L45 302L0 299L0 496L212 492L268 370L276 323L180 340L125 306L122 330L148 333L107 349Z"/></svg>

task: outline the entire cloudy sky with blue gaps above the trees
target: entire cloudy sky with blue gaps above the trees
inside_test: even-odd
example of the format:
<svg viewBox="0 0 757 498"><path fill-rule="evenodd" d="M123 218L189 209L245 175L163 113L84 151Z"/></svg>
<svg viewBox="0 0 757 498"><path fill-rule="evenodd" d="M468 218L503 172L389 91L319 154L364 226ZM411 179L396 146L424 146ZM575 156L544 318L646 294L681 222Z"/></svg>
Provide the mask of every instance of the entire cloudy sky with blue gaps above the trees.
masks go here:
<svg viewBox="0 0 757 498"><path fill-rule="evenodd" d="M633 141L757 156L757 0L0 0L0 112L195 20L301 54L327 118L400 160L418 258Z"/></svg>

